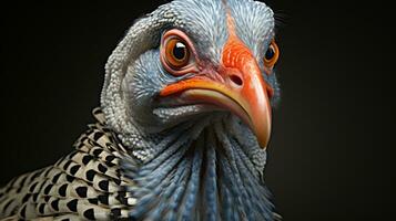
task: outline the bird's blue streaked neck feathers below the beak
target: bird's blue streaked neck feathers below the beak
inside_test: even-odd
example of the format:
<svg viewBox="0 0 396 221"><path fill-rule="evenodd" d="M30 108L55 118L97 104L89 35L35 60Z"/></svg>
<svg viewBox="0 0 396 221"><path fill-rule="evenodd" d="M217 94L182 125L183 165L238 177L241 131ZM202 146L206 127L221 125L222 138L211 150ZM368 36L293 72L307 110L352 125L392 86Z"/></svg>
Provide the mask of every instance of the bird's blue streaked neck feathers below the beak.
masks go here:
<svg viewBox="0 0 396 221"><path fill-rule="evenodd" d="M146 141L155 145L150 157L139 166L124 162L136 183L129 190L138 199L133 217L273 220L265 151L238 120L201 120L154 137Z"/></svg>

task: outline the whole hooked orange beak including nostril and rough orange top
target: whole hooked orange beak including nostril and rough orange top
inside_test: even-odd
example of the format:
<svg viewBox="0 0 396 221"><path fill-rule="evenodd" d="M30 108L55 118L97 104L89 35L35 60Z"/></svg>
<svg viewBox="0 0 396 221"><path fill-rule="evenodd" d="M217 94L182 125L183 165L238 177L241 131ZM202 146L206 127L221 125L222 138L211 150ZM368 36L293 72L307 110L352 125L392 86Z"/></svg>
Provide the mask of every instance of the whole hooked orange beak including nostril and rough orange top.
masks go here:
<svg viewBox="0 0 396 221"><path fill-rule="evenodd" d="M219 72L167 85L160 95L176 93L187 101L230 109L251 127L260 146L266 148L271 136L272 88L263 80L255 57L238 39L230 39L225 44Z"/></svg>

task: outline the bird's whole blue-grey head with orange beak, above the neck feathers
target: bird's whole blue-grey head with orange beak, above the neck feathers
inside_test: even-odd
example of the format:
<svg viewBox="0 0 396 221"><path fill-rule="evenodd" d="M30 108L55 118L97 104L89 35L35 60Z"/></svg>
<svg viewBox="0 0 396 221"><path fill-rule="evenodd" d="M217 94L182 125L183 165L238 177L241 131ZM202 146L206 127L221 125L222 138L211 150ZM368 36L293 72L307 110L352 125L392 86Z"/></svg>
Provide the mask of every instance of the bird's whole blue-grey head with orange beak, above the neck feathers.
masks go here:
<svg viewBox="0 0 396 221"><path fill-rule="evenodd" d="M128 139L231 117L265 148L278 97L274 23L272 10L251 0L161 6L109 59L101 97L108 124Z"/></svg>

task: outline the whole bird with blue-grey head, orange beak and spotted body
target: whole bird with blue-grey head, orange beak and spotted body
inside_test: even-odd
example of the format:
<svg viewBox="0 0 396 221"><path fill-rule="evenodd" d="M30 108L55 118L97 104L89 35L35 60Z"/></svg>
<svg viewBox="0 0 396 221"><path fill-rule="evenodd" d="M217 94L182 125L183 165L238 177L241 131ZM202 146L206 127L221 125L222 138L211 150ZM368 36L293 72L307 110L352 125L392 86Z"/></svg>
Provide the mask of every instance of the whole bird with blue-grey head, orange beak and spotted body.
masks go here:
<svg viewBox="0 0 396 221"><path fill-rule="evenodd" d="M281 220L264 180L275 15L173 0L134 21L69 155L0 189L0 220Z"/></svg>

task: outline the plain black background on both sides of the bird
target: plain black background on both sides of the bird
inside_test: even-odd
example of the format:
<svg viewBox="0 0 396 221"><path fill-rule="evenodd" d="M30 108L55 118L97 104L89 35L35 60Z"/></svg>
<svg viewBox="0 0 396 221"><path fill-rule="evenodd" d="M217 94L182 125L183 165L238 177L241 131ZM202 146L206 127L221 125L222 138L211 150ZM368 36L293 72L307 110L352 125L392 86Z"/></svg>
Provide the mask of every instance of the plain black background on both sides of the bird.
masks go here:
<svg viewBox="0 0 396 221"><path fill-rule="evenodd" d="M99 105L106 57L161 2L2 7L0 183L71 150ZM278 211L284 220L386 220L396 206L392 8L267 3L283 21L283 96L265 171Z"/></svg>

